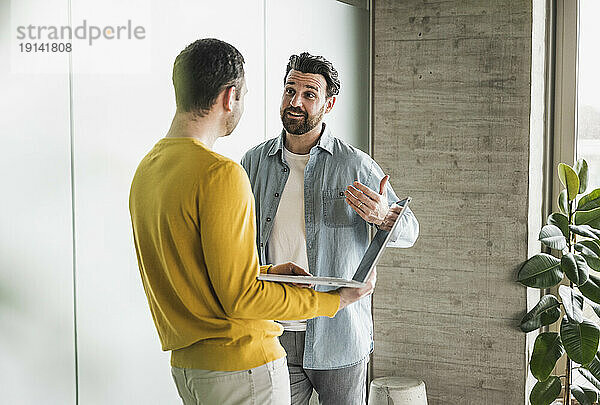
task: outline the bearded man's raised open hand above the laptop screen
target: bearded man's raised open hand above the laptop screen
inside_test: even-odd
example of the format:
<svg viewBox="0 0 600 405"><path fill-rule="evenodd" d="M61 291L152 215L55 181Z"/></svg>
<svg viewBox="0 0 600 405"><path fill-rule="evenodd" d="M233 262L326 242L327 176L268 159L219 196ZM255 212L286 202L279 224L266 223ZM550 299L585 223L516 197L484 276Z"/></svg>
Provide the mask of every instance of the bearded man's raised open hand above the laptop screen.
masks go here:
<svg viewBox="0 0 600 405"><path fill-rule="evenodd" d="M364 184L355 181L346 189L346 202L362 219L377 226L386 219L389 211L385 186L390 176L383 176L379 183L379 194ZM397 214L396 214L397 215ZM393 224L393 222L391 222Z"/></svg>

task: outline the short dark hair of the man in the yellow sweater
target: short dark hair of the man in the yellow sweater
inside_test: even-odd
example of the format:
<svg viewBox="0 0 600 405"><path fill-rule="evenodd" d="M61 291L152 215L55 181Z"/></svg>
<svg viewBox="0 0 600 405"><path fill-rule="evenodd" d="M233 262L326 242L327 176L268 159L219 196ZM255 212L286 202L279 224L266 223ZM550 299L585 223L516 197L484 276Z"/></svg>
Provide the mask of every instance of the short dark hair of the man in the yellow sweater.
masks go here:
<svg viewBox="0 0 600 405"><path fill-rule="evenodd" d="M239 99L244 80L244 57L218 39L199 39L175 58L173 86L177 109L206 115L224 89L235 86Z"/></svg>

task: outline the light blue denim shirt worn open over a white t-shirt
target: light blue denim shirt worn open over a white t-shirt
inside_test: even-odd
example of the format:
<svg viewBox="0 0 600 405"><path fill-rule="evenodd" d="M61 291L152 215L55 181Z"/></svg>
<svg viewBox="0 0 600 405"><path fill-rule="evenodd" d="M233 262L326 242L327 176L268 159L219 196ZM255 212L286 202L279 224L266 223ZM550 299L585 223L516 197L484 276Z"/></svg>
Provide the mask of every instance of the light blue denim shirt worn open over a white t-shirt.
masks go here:
<svg viewBox="0 0 600 405"><path fill-rule="evenodd" d="M267 241L273 228L289 168L283 157L284 134L250 149L242 158L256 199L256 243L261 264L267 264ZM333 137L326 127L310 151L304 170L304 214L308 270L316 276L350 279L369 245L369 224L346 203L344 190L353 181L379 191L384 173L366 153ZM399 181L400 179L391 179ZM389 185L390 205L398 197ZM410 247L419 234L412 212L403 216L400 232L388 246ZM317 291L334 287L316 286ZM329 370L354 365L373 350L371 297L349 305L335 317L309 319L304 367Z"/></svg>

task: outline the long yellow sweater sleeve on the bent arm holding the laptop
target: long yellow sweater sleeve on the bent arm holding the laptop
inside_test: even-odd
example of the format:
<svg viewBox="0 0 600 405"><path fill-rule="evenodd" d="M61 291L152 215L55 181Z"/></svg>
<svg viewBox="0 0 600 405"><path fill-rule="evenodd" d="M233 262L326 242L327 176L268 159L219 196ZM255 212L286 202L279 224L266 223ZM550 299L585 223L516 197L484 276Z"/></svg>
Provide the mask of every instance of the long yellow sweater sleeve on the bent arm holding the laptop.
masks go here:
<svg viewBox="0 0 600 405"><path fill-rule="evenodd" d="M212 288L225 314L238 319L307 319L334 316L339 293L317 292L258 280L266 271L255 244L254 197L244 169L214 164L199 190L202 253Z"/></svg>

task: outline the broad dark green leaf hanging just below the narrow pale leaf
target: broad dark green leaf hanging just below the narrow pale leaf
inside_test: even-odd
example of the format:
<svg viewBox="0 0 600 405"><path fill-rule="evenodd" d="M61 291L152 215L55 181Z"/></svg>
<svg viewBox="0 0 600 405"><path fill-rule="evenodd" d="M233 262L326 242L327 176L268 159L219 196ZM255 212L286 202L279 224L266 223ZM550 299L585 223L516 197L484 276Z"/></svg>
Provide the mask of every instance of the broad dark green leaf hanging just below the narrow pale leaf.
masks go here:
<svg viewBox="0 0 600 405"><path fill-rule="evenodd" d="M600 329L587 319L575 323L565 316L560 324L560 339L569 358L576 363L586 365L594 360L598 351Z"/></svg>

